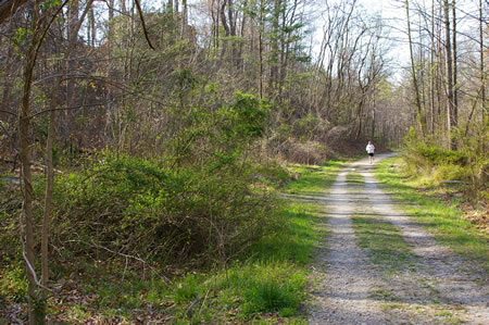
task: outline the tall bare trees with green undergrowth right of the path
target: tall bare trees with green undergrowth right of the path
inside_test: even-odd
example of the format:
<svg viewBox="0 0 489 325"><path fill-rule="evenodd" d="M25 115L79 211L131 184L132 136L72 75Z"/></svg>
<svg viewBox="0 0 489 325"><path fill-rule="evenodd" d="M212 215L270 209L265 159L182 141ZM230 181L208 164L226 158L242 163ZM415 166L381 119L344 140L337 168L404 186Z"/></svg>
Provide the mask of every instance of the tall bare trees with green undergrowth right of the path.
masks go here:
<svg viewBox="0 0 489 325"><path fill-rule="evenodd" d="M486 207L489 182L487 1L404 1L412 114L405 164L425 182L464 185ZM481 208L484 209L484 208Z"/></svg>

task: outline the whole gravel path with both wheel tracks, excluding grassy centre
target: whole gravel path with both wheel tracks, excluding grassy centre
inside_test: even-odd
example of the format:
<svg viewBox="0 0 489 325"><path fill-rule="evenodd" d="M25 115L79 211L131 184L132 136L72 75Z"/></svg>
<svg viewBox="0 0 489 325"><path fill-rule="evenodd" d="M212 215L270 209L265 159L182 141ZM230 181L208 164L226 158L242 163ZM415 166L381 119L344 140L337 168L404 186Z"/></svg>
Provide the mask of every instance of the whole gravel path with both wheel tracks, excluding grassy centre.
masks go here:
<svg viewBox="0 0 489 325"><path fill-rule="evenodd" d="M467 263L400 212L377 186L373 168L366 159L355 162L321 199L329 233L313 272L310 323L489 324L487 274L462 271ZM365 183L347 183L350 172L360 173ZM413 263L396 272L375 265L358 246L351 221L355 214L398 227Z"/></svg>

